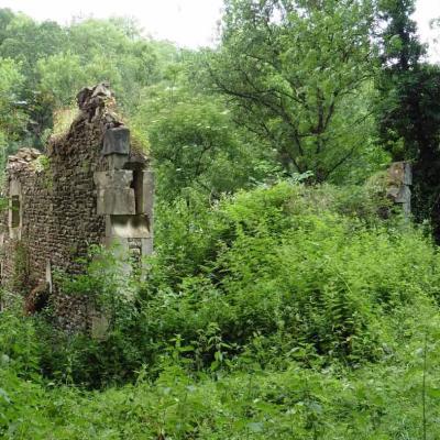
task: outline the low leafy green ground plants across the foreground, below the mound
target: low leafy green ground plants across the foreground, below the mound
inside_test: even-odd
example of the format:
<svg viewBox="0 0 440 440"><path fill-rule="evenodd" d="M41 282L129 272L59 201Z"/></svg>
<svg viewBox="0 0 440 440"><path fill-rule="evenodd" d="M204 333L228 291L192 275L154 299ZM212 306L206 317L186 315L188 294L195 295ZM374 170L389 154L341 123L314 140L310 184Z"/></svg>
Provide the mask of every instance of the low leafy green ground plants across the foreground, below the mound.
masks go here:
<svg viewBox="0 0 440 440"><path fill-rule="evenodd" d="M245 371L194 380L168 366L155 381L85 393L0 370L6 439L399 439L437 435L438 312L427 301L396 314L394 343L376 365L319 372ZM428 344L425 348L425 334ZM424 354L427 365L424 365ZM422 374L426 385L422 388Z"/></svg>

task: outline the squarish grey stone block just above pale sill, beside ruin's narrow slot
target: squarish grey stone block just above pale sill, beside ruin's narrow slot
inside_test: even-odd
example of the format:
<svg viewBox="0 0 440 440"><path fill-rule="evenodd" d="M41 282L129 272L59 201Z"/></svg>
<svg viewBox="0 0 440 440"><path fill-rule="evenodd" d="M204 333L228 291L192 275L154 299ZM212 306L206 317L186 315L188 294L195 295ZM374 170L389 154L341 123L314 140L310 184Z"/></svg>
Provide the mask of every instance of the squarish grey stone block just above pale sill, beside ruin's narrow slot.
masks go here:
<svg viewBox="0 0 440 440"><path fill-rule="evenodd" d="M135 213L132 188L106 188L98 190L97 215L127 216Z"/></svg>

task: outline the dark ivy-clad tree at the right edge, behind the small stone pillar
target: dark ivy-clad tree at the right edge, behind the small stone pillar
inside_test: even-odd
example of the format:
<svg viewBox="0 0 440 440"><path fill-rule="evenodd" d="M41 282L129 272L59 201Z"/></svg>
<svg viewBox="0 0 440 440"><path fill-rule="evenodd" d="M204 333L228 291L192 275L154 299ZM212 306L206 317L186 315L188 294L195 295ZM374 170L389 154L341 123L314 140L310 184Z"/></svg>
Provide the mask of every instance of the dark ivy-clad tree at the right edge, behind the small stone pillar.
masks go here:
<svg viewBox="0 0 440 440"><path fill-rule="evenodd" d="M422 59L426 47L410 19L414 11L414 0L378 3L384 31L377 120L382 143L393 158L414 164L416 220L430 220L440 240L440 67Z"/></svg>

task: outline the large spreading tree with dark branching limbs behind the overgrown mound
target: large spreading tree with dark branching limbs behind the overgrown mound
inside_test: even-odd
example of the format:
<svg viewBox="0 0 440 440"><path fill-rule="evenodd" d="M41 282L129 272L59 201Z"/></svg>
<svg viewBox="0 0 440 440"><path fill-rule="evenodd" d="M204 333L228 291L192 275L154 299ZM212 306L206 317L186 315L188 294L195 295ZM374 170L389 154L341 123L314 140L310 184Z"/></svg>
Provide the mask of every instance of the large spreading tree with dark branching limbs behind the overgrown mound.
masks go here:
<svg viewBox="0 0 440 440"><path fill-rule="evenodd" d="M286 172L329 179L369 143L372 20L369 1L226 2L212 87Z"/></svg>

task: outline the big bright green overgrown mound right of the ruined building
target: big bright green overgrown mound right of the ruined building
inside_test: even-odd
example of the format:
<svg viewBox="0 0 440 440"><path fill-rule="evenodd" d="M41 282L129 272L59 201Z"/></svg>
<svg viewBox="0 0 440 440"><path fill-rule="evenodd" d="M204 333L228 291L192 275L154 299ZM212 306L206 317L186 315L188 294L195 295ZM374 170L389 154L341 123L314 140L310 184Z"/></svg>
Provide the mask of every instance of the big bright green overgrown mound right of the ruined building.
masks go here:
<svg viewBox="0 0 440 440"><path fill-rule="evenodd" d="M422 242L417 233L398 226L389 233L377 224L362 194L353 200L353 191L336 193L288 184L261 188L226 200L208 216L196 210L186 230L178 217L188 219L188 208L173 206L177 220L163 217L166 229L157 227L157 239L164 233L167 242L157 248L145 286L142 328L150 327L158 341L177 333L194 344L213 322L231 355L257 338L277 348L279 358L305 346L306 363L310 355L324 355L323 363L380 356L378 320L393 305L414 298L407 267L425 271L436 256L429 243L414 253L414 243ZM371 226L334 209L362 213ZM437 295L421 274L415 276L414 295Z"/></svg>

